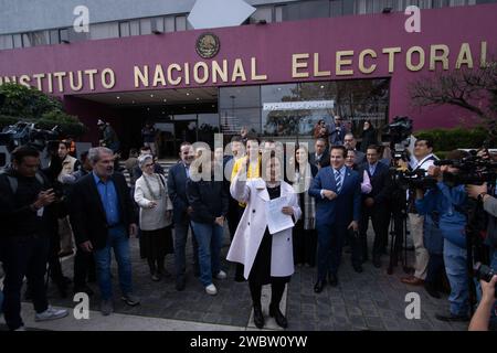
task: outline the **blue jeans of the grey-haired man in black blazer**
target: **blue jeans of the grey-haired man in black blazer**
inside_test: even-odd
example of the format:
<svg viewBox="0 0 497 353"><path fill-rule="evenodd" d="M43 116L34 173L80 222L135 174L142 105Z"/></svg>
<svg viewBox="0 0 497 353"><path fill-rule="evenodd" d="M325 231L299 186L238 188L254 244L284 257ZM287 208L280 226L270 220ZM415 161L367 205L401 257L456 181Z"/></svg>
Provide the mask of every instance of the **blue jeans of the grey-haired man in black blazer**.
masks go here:
<svg viewBox="0 0 497 353"><path fill-rule="evenodd" d="M110 279L110 248L117 260L119 271L119 286L123 295L133 293L131 260L129 256L129 239L124 226L108 229L107 244L104 248L95 250L95 265L97 269L98 287L102 299L113 298L113 282Z"/></svg>

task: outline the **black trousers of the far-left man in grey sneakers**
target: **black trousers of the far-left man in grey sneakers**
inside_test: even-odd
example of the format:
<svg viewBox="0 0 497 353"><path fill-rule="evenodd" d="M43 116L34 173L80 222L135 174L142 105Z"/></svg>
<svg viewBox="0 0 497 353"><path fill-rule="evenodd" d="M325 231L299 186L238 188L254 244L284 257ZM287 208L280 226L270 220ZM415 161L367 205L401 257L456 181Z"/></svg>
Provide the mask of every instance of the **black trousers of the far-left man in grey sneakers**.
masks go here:
<svg viewBox="0 0 497 353"><path fill-rule="evenodd" d="M46 260L50 239L46 236L0 237L0 258L3 261L3 313L10 330L23 325L21 319L21 288L24 276L32 293L36 312L47 309L45 290Z"/></svg>

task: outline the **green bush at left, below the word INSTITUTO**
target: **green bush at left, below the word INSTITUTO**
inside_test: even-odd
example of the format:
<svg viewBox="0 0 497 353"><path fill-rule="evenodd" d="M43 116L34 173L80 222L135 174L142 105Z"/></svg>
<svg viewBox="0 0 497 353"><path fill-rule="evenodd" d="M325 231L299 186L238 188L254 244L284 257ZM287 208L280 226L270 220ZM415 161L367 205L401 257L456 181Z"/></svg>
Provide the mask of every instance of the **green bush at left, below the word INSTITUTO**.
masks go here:
<svg viewBox="0 0 497 353"><path fill-rule="evenodd" d="M0 128L22 120L36 122L41 129L59 126L63 137L80 137L87 131L76 116L63 110L57 98L35 88L9 83L0 86L0 94L6 97L0 107Z"/></svg>

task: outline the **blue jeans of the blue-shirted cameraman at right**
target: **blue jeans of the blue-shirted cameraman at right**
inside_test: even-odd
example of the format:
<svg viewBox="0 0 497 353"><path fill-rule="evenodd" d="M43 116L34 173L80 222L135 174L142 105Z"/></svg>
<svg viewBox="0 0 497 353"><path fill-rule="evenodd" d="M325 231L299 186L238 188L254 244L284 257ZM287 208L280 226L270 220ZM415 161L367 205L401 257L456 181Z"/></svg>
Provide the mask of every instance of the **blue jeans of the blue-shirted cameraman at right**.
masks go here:
<svg viewBox="0 0 497 353"><path fill-rule="evenodd" d="M467 252L444 239L444 261L448 282L451 284L451 313L467 315L469 309L469 289L467 277Z"/></svg>

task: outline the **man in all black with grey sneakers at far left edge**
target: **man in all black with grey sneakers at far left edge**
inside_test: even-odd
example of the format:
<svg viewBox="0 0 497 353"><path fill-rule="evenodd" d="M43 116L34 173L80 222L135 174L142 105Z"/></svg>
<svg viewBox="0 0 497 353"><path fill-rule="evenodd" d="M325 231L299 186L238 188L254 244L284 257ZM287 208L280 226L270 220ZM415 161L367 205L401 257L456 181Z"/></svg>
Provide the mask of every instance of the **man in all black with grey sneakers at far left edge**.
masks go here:
<svg viewBox="0 0 497 353"><path fill-rule="evenodd" d="M55 193L38 171L40 152L19 147L12 152L12 168L0 175L0 258L6 270L4 317L10 330L23 330L21 288L24 276L31 289L35 321L59 319L66 310L49 306L44 287L49 257L52 207Z"/></svg>

